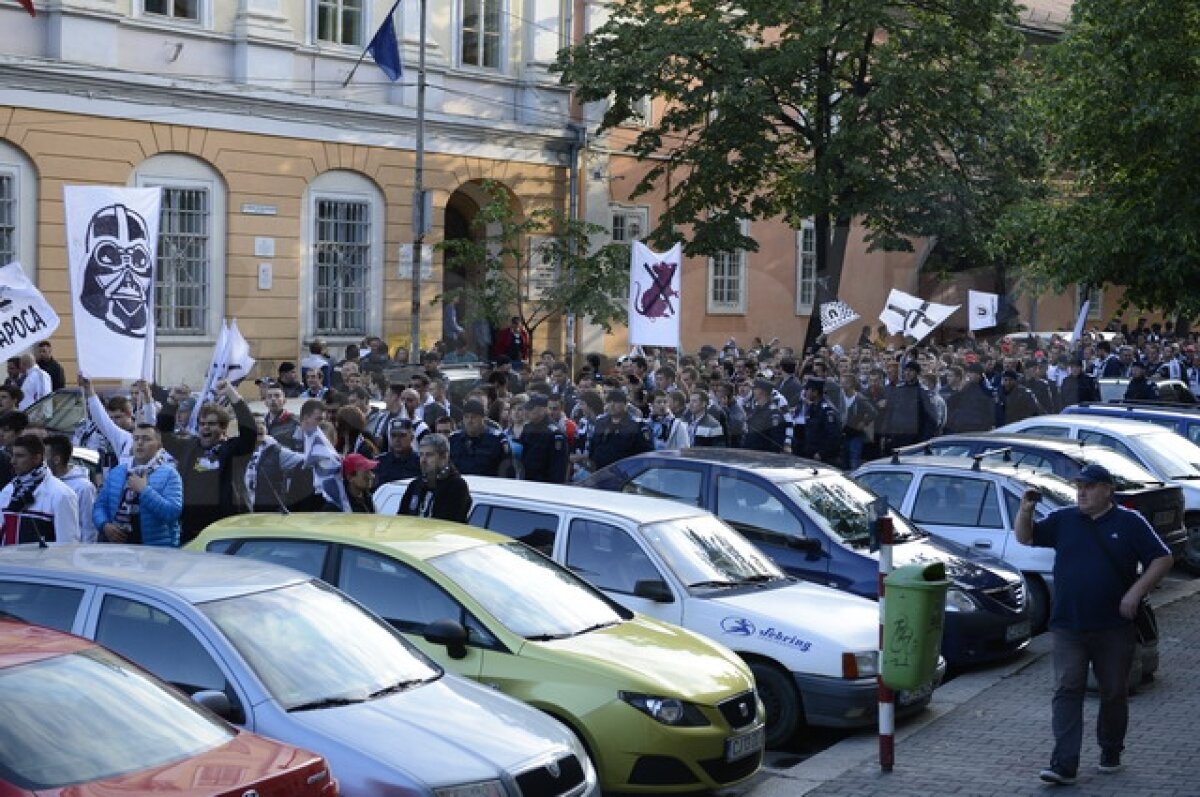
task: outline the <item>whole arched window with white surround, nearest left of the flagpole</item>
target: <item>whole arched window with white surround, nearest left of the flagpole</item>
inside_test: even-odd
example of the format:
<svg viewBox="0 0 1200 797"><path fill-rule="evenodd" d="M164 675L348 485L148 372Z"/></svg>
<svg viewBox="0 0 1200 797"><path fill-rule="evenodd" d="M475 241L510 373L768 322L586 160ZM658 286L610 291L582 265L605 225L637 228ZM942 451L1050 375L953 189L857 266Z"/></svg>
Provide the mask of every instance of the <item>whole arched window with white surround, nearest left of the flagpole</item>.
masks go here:
<svg viewBox="0 0 1200 797"><path fill-rule="evenodd" d="M383 209L383 193L361 174L326 172L308 186L305 337L358 340L382 331Z"/></svg>

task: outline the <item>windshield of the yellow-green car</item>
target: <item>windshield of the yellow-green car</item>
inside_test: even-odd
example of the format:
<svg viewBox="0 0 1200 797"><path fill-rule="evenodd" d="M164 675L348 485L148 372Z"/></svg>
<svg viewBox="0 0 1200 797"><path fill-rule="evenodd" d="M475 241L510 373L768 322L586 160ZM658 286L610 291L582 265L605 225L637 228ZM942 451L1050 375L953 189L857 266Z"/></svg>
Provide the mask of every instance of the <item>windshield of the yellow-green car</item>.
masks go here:
<svg viewBox="0 0 1200 797"><path fill-rule="evenodd" d="M574 573L521 543L476 545L430 564L527 640L566 639L624 619Z"/></svg>

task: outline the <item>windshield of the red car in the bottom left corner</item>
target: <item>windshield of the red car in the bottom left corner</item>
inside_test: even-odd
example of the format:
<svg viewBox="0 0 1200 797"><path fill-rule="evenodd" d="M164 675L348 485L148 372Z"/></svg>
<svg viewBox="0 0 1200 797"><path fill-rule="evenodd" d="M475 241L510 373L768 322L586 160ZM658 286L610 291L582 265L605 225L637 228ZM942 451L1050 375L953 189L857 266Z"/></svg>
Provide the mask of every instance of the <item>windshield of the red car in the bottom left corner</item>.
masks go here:
<svg viewBox="0 0 1200 797"><path fill-rule="evenodd" d="M103 648L0 670L0 784L28 791L161 767L235 736Z"/></svg>

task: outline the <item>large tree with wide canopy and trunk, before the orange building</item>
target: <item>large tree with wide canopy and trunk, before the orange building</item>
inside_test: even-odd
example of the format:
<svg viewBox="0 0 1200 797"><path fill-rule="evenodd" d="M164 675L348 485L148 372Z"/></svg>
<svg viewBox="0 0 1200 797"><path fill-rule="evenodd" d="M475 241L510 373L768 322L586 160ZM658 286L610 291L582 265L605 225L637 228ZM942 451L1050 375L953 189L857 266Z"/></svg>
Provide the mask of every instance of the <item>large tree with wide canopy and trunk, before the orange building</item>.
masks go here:
<svg viewBox="0 0 1200 797"><path fill-rule="evenodd" d="M1022 37L1012 0L614 0L557 68L601 131L665 101L631 151L665 185L650 240L689 254L756 244L742 218L816 228L835 294L851 222L872 247L937 238L984 252L1036 150L1019 124ZM810 335L815 324L810 324Z"/></svg>

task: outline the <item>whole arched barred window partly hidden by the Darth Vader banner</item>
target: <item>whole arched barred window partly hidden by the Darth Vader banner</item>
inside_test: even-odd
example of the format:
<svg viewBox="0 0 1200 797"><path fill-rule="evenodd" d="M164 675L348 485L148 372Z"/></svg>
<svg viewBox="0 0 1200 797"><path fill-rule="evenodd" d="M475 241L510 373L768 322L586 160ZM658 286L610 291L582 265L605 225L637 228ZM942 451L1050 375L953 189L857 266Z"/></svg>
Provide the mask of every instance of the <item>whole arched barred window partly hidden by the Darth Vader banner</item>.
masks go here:
<svg viewBox="0 0 1200 797"><path fill-rule="evenodd" d="M133 173L162 188L155 323L160 337L214 337L224 314L226 187L210 164L155 155Z"/></svg>

